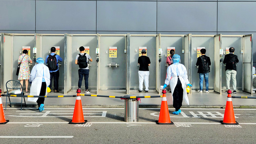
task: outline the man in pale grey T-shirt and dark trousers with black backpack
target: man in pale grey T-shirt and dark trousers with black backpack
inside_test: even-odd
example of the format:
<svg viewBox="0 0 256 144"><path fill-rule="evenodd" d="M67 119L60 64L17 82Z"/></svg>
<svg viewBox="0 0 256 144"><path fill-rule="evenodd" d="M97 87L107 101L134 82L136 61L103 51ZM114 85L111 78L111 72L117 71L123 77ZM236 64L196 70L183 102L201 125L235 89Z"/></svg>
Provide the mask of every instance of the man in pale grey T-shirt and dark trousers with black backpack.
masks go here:
<svg viewBox="0 0 256 144"><path fill-rule="evenodd" d="M78 88L81 89L83 76L84 76L84 84L85 84L85 93L90 93L88 90L88 78L89 78L89 67L88 67L88 60L93 61L90 55L85 53L85 48L83 46L79 47L80 54L76 55L75 64L79 65L79 81L78 81Z"/></svg>

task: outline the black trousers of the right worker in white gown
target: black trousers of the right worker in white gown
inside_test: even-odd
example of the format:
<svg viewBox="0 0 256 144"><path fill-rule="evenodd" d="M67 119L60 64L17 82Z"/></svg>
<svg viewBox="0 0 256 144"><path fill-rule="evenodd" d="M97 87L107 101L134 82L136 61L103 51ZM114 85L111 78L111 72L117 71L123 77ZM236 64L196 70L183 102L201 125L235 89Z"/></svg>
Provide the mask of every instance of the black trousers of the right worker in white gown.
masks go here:
<svg viewBox="0 0 256 144"><path fill-rule="evenodd" d="M178 111L182 106L182 100L183 100L183 88L182 88L179 77L178 77L177 85L174 88L172 96L173 96L173 107L175 108L175 111Z"/></svg>

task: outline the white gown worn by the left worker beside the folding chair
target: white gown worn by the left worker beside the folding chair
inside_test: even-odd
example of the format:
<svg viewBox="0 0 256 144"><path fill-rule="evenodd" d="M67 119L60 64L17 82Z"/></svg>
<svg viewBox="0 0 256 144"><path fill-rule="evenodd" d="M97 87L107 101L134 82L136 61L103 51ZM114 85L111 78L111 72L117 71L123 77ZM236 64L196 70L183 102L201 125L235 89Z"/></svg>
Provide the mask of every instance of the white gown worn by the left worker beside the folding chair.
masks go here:
<svg viewBox="0 0 256 144"><path fill-rule="evenodd" d="M42 86L42 79L43 79L43 71L44 71L44 79L46 82L46 90L45 96L47 95L47 87L50 84L50 72L49 68L42 63L38 63L35 65L30 73L29 81L32 81L30 87L30 96L39 96L41 86ZM28 98L28 101L37 102L38 98Z"/></svg>

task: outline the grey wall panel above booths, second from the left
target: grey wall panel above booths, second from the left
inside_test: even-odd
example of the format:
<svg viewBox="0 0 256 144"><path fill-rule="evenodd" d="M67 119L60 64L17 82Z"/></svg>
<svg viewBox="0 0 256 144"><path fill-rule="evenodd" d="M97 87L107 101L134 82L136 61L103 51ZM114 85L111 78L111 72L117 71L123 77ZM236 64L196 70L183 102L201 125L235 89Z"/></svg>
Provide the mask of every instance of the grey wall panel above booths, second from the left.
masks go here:
<svg viewBox="0 0 256 144"><path fill-rule="evenodd" d="M96 30L96 1L37 1L36 30Z"/></svg>

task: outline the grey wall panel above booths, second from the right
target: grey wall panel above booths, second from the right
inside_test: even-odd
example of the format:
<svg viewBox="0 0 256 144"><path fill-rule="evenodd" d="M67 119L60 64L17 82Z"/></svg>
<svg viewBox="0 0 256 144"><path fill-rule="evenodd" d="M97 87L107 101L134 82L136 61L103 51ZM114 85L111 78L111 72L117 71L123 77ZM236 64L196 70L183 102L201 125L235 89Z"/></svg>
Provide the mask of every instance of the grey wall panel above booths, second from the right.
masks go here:
<svg viewBox="0 0 256 144"><path fill-rule="evenodd" d="M216 31L217 2L158 2L158 31Z"/></svg>

